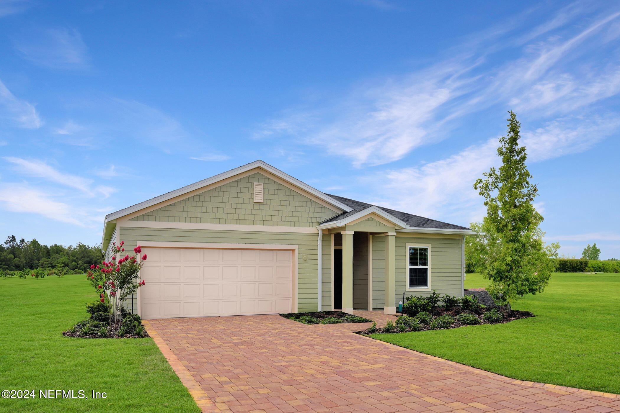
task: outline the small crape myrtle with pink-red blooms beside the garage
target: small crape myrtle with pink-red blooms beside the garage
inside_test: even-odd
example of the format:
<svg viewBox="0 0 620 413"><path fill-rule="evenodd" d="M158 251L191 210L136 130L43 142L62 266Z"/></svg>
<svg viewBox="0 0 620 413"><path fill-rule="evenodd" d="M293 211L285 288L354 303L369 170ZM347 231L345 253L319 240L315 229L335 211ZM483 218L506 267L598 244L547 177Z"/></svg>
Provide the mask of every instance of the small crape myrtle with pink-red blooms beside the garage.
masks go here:
<svg viewBox="0 0 620 413"><path fill-rule="evenodd" d="M133 249L133 254L125 254L123 258L117 259L117 255L125 253L123 245L125 241L121 241L118 245L113 242L112 259L109 262L92 264L86 273L87 280L99 293L100 302L106 302L107 299L110 302L110 326L118 327L123 319L123 301L146 284L144 280L138 280L140 269L146 261L146 254L140 258L142 250L138 245Z"/></svg>

